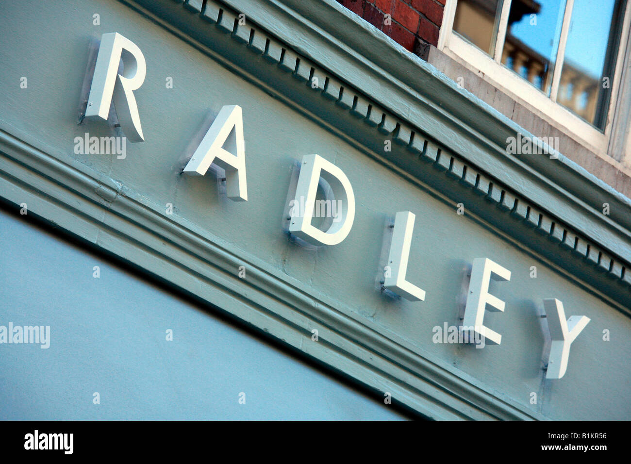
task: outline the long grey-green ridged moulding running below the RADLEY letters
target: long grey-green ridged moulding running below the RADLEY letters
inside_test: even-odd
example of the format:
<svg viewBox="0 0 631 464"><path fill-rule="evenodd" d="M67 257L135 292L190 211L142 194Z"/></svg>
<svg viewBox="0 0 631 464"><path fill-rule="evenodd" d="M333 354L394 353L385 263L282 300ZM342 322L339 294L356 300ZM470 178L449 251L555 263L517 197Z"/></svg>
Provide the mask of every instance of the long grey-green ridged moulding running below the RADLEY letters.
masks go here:
<svg viewBox="0 0 631 464"><path fill-rule="evenodd" d="M0 131L0 196L430 419L545 419L380 335L300 282L78 162ZM19 207L19 206L18 206ZM235 271L245 265L248 278ZM245 290L244 290L245 288ZM348 311L347 313L350 313ZM319 341L311 341L311 330Z"/></svg>

